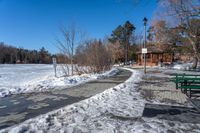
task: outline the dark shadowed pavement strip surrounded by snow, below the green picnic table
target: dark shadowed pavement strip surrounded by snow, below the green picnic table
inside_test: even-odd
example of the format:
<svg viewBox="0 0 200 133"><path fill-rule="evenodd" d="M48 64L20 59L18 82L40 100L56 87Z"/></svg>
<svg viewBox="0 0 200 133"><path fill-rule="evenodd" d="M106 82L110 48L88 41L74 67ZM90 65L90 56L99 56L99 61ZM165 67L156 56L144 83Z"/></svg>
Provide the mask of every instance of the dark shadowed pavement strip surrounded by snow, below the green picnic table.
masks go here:
<svg viewBox="0 0 200 133"><path fill-rule="evenodd" d="M195 108L146 104L143 117L179 121L183 123L200 123L200 113Z"/></svg>

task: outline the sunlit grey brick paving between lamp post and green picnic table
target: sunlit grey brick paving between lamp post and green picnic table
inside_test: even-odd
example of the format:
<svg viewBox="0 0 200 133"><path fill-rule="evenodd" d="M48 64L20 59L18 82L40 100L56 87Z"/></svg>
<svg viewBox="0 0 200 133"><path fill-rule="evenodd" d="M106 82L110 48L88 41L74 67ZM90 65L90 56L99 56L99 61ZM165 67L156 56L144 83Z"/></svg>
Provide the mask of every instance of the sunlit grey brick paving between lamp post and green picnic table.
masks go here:
<svg viewBox="0 0 200 133"><path fill-rule="evenodd" d="M157 100L163 103L188 105L187 96L176 85L170 82L170 76L159 70L148 70L139 83L139 89L147 100Z"/></svg>

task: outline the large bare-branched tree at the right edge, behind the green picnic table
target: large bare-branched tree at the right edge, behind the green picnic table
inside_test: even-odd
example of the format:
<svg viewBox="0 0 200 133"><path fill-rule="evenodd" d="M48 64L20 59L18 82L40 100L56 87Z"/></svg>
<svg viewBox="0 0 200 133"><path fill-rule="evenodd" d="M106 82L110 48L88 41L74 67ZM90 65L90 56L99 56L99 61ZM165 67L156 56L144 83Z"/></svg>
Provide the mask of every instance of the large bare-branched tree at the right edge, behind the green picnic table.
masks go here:
<svg viewBox="0 0 200 133"><path fill-rule="evenodd" d="M200 0L159 0L159 4L165 8L163 16L170 16L168 21L176 24L177 30L187 37L194 53L193 68L197 67L200 60L199 29L200 29ZM167 14L165 14L167 13Z"/></svg>

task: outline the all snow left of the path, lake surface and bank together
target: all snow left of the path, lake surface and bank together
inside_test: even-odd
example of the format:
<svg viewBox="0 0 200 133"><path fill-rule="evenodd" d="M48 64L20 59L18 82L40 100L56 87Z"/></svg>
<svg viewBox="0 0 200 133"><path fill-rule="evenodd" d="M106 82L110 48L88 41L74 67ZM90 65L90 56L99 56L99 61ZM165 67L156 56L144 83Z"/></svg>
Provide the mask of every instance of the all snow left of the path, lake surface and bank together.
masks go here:
<svg viewBox="0 0 200 133"><path fill-rule="evenodd" d="M62 68L58 65L57 77L55 77L53 65L0 65L0 97L19 93L62 89L104 76L111 76L116 74L117 71L117 69L112 69L104 74L64 77L62 76Z"/></svg>

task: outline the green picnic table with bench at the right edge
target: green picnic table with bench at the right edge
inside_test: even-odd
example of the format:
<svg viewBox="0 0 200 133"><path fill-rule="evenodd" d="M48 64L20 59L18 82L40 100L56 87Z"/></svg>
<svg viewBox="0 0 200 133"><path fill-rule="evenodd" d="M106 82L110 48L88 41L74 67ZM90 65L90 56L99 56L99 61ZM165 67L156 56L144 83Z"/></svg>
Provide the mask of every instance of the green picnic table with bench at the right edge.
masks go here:
<svg viewBox="0 0 200 133"><path fill-rule="evenodd" d="M200 75L194 74L175 74L175 77L171 79L176 84L176 89L181 89L191 98L191 94L200 91Z"/></svg>

